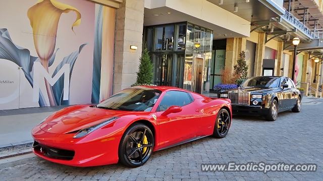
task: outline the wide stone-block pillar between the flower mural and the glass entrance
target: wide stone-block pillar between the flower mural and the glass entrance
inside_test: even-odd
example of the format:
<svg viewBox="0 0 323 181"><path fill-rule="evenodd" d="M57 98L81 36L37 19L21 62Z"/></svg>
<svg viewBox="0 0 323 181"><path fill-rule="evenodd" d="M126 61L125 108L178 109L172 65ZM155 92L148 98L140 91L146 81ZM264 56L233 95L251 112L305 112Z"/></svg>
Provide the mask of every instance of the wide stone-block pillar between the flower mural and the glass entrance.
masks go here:
<svg viewBox="0 0 323 181"><path fill-rule="evenodd" d="M136 82L142 51L144 0L124 0L117 10L114 93ZM131 50L130 45L138 47Z"/></svg>

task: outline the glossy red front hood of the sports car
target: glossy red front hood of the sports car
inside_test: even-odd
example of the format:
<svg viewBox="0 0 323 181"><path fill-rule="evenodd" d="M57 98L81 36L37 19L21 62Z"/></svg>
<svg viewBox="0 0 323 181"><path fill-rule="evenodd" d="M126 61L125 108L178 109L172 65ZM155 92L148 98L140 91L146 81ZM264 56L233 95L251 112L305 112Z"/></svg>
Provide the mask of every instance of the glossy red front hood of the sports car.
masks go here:
<svg viewBox="0 0 323 181"><path fill-rule="evenodd" d="M65 134L97 125L106 119L127 113L129 112L94 108L90 105L76 105L53 113L41 124L40 129L49 133Z"/></svg>

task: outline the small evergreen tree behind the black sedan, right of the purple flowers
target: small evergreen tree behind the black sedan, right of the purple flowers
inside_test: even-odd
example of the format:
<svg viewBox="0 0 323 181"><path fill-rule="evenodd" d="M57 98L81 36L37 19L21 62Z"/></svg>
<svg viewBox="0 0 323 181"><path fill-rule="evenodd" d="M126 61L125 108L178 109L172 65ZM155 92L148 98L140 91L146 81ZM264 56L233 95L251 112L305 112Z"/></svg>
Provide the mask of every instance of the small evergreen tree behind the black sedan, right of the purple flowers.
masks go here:
<svg viewBox="0 0 323 181"><path fill-rule="evenodd" d="M236 84L240 85L247 78L248 65L246 62L246 52L241 51L237 60L237 65L234 66L235 76L237 76Z"/></svg>

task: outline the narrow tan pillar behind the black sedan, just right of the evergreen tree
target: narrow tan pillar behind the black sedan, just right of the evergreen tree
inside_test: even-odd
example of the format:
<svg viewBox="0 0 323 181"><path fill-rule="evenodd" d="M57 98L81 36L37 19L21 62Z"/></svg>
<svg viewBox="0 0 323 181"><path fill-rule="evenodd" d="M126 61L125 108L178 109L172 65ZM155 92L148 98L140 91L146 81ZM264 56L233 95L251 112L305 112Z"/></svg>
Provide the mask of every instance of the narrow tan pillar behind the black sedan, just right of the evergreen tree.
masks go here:
<svg viewBox="0 0 323 181"><path fill-rule="evenodd" d="M256 52L254 57L254 76L261 76L262 74L262 61L264 58L265 50L265 33L258 34L258 43L256 45Z"/></svg>

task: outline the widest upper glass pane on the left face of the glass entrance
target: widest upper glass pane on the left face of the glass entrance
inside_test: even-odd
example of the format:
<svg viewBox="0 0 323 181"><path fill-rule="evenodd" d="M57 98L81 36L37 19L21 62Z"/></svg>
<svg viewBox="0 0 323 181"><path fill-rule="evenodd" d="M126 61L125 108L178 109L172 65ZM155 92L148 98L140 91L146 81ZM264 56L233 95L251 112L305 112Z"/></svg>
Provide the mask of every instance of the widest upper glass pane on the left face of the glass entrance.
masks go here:
<svg viewBox="0 0 323 181"><path fill-rule="evenodd" d="M155 50L171 50L174 47L174 25L154 28Z"/></svg>

